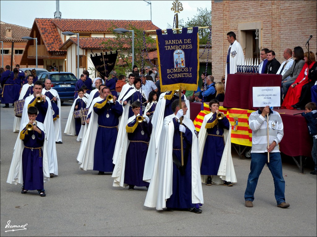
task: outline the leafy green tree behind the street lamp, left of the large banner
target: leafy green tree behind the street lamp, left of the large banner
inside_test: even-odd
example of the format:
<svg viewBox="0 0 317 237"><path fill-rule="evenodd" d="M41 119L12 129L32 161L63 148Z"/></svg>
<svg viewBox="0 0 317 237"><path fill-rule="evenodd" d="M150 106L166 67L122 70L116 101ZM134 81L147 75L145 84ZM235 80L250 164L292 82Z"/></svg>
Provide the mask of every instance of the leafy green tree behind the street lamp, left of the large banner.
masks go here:
<svg viewBox="0 0 317 237"><path fill-rule="evenodd" d="M109 29L119 28L114 25ZM120 26L120 28L134 30L134 64L138 65L139 68L142 66L142 49L143 49L143 29L137 29L132 25ZM116 65L114 70L117 71L117 74L128 75L132 71L132 33L123 33L118 34L113 32L114 37L109 38L102 42L102 48L104 51L116 51L118 50L118 57L116 60ZM152 51L156 50L155 40L150 36L146 35L146 46L147 50ZM146 53L146 52L144 52ZM146 57L144 55L144 57Z"/></svg>

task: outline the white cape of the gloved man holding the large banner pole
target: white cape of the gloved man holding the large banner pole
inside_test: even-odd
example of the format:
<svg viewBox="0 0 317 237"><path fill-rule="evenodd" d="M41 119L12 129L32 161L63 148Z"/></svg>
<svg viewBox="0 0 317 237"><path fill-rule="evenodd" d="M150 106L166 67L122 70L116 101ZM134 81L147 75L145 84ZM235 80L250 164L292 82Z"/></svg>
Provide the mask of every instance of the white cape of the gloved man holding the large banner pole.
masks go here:
<svg viewBox="0 0 317 237"><path fill-rule="evenodd" d="M167 116L164 119L162 137L159 143L159 151L155 157L155 166L152 174L152 179L149 189L146 194L144 205L147 207L156 207L157 210L162 210L166 207L166 200L171 197L173 185L173 135L174 125L172 119L174 114ZM203 189L200 180L199 166L199 150L198 139L194 131L195 126L190 119L184 118L186 125L192 132L192 147L191 147L191 199L194 204L204 204Z"/></svg>

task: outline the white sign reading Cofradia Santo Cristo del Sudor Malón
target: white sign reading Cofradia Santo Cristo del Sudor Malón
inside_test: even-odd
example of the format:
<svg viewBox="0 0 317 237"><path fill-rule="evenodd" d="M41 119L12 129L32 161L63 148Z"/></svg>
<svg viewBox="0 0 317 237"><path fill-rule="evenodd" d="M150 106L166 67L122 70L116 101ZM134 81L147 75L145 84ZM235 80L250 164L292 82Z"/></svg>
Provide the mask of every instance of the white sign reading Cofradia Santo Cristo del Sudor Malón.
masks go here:
<svg viewBox="0 0 317 237"><path fill-rule="evenodd" d="M281 106L281 87L253 87L253 107Z"/></svg>

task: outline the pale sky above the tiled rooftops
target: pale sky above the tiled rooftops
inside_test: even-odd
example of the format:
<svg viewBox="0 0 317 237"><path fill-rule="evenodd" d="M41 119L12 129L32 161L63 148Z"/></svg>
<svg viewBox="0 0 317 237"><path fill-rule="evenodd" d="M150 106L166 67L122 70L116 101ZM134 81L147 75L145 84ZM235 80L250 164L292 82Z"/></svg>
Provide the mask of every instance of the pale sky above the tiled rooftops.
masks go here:
<svg viewBox="0 0 317 237"><path fill-rule="evenodd" d="M151 20L160 29L166 29L167 24L173 26L174 11L170 1L146 0L117 1L59 1L59 11L62 19L100 19L100 20ZM211 9L209 1L185 1L183 11L178 14L178 20L191 19L197 15L197 8ZM13 15L12 8L17 12ZM29 10L25 10L29 9ZM56 1L0 1L0 20L14 25L31 28L35 18L54 18Z"/></svg>

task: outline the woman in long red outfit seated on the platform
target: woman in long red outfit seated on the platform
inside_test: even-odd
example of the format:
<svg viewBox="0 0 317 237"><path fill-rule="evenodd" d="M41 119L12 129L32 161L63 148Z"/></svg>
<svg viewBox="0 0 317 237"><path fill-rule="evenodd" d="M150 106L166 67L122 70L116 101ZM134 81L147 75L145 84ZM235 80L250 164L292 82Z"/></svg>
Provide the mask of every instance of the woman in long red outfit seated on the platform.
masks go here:
<svg viewBox="0 0 317 237"><path fill-rule="evenodd" d="M308 62L308 52L304 54L305 64L300 74L296 78L295 82L289 87L286 97L281 105L282 109L294 109L292 105L296 104L299 101L301 96L301 88L303 85L308 83L308 65L309 69L316 62L315 55L313 52L309 52L309 62Z"/></svg>

